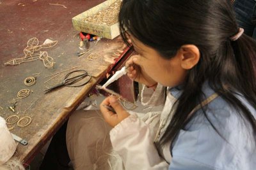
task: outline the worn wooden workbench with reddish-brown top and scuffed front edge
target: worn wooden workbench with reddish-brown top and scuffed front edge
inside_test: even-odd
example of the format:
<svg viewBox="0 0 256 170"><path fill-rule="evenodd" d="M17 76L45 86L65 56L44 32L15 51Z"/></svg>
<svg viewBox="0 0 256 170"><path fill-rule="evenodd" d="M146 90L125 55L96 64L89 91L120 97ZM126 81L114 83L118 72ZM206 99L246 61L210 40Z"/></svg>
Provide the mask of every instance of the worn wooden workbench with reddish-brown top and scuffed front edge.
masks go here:
<svg viewBox="0 0 256 170"><path fill-rule="evenodd" d="M79 41L77 31L72 28L71 18L75 15L102 3L102 1L58 1L63 6L49 5L55 1L12 1L0 4L0 116L7 118L17 115L20 118L29 116L32 122L28 127L18 127L11 132L28 140L28 145L17 145L15 156L29 163L36 152L58 131L79 103L87 96L96 83L102 78L125 53L124 43L120 37L113 40L102 39L97 45L90 43L90 52L99 53L99 58L88 60L87 55L77 59ZM19 4L21 3L21 4ZM24 5L24 6L23 6ZM12 16L12 17L8 17ZM4 66L4 62L12 58L23 57L23 49L28 39L36 37L42 44L45 39L57 40L58 44L46 49L54 59L54 67L47 69L41 60L22 63L19 66ZM118 57L113 55L116 50L124 50ZM115 56L115 57L114 57ZM60 71L77 67L92 74L92 80L84 87L63 87L49 94L44 94L47 87L59 83L65 74L61 73L51 81L44 83L49 76ZM74 69L75 70L75 69ZM72 70L73 71L73 70ZM24 79L40 73L36 84L31 87L24 85ZM24 99L17 100L15 113L7 107L12 106L12 99L17 98L17 92L29 89L33 92Z"/></svg>

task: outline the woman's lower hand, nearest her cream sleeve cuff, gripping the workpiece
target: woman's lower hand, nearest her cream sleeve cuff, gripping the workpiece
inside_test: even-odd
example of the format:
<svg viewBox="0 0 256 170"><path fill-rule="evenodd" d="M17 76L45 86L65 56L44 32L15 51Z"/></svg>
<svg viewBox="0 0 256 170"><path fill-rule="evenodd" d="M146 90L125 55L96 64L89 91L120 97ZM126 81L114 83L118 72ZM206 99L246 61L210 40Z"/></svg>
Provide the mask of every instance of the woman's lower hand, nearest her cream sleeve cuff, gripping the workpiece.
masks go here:
<svg viewBox="0 0 256 170"><path fill-rule="evenodd" d="M113 113L113 111L108 110L104 106L111 106L116 113ZM105 119L105 121L111 126L115 127L117 124L122 122L125 118L129 117L129 113L124 110L122 105L118 102L115 96L109 96L102 103L100 104L100 111Z"/></svg>

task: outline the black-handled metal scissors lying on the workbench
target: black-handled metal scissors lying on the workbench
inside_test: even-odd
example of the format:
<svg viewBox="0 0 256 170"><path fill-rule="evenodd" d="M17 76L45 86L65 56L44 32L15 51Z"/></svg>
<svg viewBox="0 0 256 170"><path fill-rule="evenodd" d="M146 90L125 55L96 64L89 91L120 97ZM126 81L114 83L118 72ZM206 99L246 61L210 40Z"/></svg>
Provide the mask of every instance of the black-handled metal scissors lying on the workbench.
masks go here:
<svg viewBox="0 0 256 170"><path fill-rule="evenodd" d="M72 76L73 73L82 73L82 74L76 74L74 76ZM88 80L86 80L84 83L79 84L79 85L73 85L74 83L83 80L84 78L89 77ZM76 71L72 71L70 73L68 73L64 80L61 81L61 83L58 83L58 85L54 85L53 87L51 87L50 89L44 90L45 93L50 92L51 90L57 89L59 87L63 87L63 86L68 86L68 87L81 87L83 85L86 85L90 80L91 80L92 76L87 73L87 71L83 70L83 69L79 69Z"/></svg>

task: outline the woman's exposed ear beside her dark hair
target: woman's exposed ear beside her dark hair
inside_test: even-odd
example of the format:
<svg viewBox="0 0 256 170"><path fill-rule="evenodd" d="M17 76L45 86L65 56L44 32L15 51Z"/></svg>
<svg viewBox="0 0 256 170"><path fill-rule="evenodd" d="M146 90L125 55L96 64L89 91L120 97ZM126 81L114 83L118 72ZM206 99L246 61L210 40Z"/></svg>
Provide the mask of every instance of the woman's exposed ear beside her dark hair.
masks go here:
<svg viewBox="0 0 256 170"><path fill-rule="evenodd" d="M195 45L183 45L180 48L180 64L183 69L191 69L198 63L200 52Z"/></svg>

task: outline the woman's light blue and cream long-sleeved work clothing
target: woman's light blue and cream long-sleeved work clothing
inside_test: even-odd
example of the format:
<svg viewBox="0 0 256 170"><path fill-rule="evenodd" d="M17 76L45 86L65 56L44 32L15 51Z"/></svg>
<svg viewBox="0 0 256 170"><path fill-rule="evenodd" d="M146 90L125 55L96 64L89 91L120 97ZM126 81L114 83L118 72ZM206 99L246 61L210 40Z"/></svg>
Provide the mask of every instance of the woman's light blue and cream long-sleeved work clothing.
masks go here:
<svg viewBox="0 0 256 170"><path fill-rule="evenodd" d="M207 84L203 91L206 97L214 94ZM161 115L148 113L146 118L131 115L111 130L111 143L122 157L125 169L255 169L256 150L252 127L246 120L243 122L237 110L221 97L207 105L206 114L223 138L213 129L202 110L198 110L173 141L172 159L170 145L157 150L154 141L166 130L172 118L170 109L181 94L177 88L167 92ZM152 93L144 89L144 103L159 104L165 99L161 85ZM237 97L256 117L255 108L244 97Z"/></svg>

